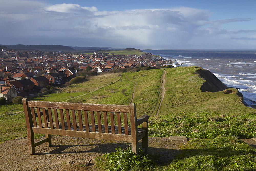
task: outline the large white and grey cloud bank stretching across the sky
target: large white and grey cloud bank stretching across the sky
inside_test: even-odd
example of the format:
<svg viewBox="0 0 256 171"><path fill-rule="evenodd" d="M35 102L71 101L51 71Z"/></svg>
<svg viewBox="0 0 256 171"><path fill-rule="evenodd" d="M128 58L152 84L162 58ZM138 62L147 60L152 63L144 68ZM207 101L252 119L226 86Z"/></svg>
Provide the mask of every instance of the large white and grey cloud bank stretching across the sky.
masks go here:
<svg viewBox="0 0 256 171"><path fill-rule="evenodd" d="M209 20L209 11L188 7L98 11L97 7L79 4L9 0L0 11L0 27L5 33L0 35L0 44L211 48L222 42L235 44L239 34L255 33L222 27L251 19ZM246 40L247 36L240 37Z"/></svg>

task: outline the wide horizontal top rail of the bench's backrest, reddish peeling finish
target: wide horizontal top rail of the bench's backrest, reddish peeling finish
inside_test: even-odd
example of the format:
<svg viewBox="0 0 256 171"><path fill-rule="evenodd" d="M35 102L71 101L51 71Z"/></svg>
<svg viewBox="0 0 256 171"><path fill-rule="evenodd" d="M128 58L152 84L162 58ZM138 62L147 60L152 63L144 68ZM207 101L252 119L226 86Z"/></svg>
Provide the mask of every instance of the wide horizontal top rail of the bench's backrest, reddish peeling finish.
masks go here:
<svg viewBox="0 0 256 171"><path fill-rule="evenodd" d="M72 109L87 111L108 111L108 112L129 112L128 105L116 104L90 104L90 103L69 103L69 102L45 102L45 101L28 101L28 107L38 108L55 108L55 109Z"/></svg>

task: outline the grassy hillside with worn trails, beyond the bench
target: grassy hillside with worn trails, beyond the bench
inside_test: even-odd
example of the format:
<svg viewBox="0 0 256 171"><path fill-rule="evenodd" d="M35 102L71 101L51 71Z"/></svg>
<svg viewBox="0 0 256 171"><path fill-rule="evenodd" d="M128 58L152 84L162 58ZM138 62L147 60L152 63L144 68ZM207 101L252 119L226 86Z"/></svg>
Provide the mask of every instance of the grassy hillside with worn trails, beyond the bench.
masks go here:
<svg viewBox="0 0 256 171"><path fill-rule="evenodd" d="M89 81L73 84L67 92L73 90L84 92L96 87L107 85L93 93L73 99L73 102L128 104L131 102L135 82L135 97L137 114L154 115L160 102L161 78L163 70L165 76L165 95L159 114L181 112L210 112L239 114L256 112L255 109L244 106L236 89L232 93L224 93L227 87L212 73L200 67L177 67L154 70L141 70L120 74L111 73L91 77ZM127 78L128 79L127 79ZM112 84L113 83L113 84ZM125 93L121 91L126 89Z"/></svg>

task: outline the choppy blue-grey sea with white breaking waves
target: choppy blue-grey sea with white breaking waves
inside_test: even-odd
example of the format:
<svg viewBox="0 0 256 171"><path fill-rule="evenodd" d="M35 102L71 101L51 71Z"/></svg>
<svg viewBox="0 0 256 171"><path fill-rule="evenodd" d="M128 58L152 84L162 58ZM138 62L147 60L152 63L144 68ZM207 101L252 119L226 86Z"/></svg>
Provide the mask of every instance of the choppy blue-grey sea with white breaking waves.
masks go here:
<svg viewBox="0 0 256 171"><path fill-rule="evenodd" d="M147 49L143 52L208 69L226 86L238 89L244 102L253 104L256 101L256 49Z"/></svg>

